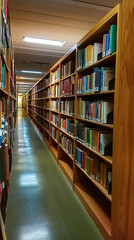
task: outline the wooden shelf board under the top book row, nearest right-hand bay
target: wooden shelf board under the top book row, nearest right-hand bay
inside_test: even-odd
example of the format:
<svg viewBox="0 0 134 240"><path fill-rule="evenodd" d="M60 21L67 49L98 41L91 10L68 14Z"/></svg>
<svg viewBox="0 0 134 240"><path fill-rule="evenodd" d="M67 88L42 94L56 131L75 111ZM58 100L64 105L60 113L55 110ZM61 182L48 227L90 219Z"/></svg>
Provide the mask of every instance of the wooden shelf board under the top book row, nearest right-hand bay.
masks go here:
<svg viewBox="0 0 134 240"><path fill-rule="evenodd" d="M102 65L104 66L105 63L111 63L112 61L115 61L116 59L116 52L112 53L111 55L108 55L102 59L100 59L99 61L83 68L83 69L80 69L78 70L78 73L83 73L83 72L86 72L88 70L92 70L93 68L95 67L101 67Z"/></svg>

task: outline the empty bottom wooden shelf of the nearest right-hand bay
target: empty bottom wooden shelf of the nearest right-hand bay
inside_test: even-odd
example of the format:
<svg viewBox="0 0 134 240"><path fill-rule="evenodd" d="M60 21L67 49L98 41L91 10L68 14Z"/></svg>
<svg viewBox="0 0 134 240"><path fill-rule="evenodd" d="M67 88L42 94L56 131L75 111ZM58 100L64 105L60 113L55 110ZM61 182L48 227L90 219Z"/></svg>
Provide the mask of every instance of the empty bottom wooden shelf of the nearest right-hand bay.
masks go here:
<svg viewBox="0 0 134 240"><path fill-rule="evenodd" d="M80 184L74 184L74 191L80 198L81 202L85 206L89 215L92 217L97 227L105 239L111 239L111 220L99 206L97 201L86 191L86 189Z"/></svg>

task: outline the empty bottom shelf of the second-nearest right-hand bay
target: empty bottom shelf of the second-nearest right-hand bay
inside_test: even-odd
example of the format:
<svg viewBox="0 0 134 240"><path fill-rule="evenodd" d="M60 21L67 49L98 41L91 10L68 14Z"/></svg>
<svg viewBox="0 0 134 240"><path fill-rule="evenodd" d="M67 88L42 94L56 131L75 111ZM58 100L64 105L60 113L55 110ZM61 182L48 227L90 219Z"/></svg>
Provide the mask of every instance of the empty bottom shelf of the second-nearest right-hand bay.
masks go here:
<svg viewBox="0 0 134 240"><path fill-rule="evenodd" d="M70 184L73 186L73 169L70 165L62 160L58 160L58 164L62 171L64 172L65 176L69 180Z"/></svg>

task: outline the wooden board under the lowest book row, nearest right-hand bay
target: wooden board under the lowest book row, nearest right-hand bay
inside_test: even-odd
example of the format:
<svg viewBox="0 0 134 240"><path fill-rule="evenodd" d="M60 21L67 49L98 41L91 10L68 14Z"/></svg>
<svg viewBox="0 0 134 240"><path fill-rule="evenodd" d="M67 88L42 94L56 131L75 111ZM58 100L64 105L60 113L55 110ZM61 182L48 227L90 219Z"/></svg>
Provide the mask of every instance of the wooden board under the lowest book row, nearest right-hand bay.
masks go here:
<svg viewBox="0 0 134 240"><path fill-rule="evenodd" d="M112 196L111 194L107 193L107 190L97 181L95 181L94 179L92 179L76 162L75 162L76 166L90 179L90 181L103 193L103 195L105 195L105 197L112 202Z"/></svg>

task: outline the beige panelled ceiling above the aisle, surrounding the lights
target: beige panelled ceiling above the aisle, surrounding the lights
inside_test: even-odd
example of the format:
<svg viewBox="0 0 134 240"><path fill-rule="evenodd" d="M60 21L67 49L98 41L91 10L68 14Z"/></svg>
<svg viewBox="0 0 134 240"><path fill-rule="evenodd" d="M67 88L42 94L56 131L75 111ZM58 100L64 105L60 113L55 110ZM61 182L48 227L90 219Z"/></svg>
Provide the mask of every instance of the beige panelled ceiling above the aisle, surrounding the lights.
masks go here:
<svg viewBox="0 0 134 240"><path fill-rule="evenodd" d="M18 92L28 91L119 2L120 0L10 0ZM60 40L65 41L65 44L62 47L31 44L23 41L24 36ZM40 71L42 74L25 75L22 70Z"/></svg>

